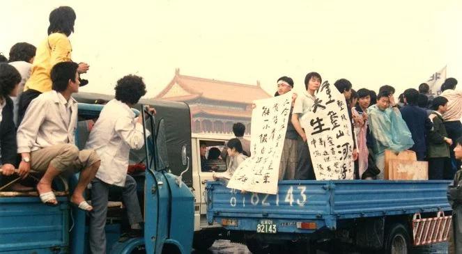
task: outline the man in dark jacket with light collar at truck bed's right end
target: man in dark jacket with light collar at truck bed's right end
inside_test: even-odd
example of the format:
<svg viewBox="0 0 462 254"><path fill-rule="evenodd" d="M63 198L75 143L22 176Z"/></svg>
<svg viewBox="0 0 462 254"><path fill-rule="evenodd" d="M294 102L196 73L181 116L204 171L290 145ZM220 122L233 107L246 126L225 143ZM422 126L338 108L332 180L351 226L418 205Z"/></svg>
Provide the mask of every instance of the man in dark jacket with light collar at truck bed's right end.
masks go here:
<svg viewBox="0 0 462 254"><path fill-rule="evenodd" d="M429 132L429 148L427 158L429 159L429 180L443 180L445 175L451 175L452 165L449 154L449 145L452 139L446 132L446 127L442 122L442 114L447 110L447 99L442 96L433 98L433 113L429 116L433 122L433 128Z"/></svg>

